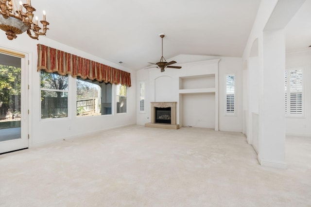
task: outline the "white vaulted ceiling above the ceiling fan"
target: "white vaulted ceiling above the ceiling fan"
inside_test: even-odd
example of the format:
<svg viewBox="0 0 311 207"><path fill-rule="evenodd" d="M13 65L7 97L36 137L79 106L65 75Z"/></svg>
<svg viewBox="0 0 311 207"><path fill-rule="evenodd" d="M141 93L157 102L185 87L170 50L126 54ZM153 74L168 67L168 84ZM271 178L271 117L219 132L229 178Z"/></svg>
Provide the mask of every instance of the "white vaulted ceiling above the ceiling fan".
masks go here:
<svg viewBox="0 0 311 207"><path fill-rule="evenodd" d="M47 38L137 70L159 61L161 33L166 59L179 54L241 57L260 0L31 2L39 20L46 10Z"/></svg>

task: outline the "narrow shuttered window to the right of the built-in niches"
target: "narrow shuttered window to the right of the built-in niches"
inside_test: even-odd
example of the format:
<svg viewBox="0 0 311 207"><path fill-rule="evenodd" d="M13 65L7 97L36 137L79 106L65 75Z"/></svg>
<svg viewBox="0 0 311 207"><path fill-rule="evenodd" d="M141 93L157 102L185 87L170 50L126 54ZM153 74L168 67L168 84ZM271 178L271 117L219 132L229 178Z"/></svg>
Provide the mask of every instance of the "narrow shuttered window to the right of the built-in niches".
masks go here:
<svg viewBox="0 0 311 207"><path fill-rule="evenodd" d="M226 115L235 115L235 74L226 74Z"/></svg>

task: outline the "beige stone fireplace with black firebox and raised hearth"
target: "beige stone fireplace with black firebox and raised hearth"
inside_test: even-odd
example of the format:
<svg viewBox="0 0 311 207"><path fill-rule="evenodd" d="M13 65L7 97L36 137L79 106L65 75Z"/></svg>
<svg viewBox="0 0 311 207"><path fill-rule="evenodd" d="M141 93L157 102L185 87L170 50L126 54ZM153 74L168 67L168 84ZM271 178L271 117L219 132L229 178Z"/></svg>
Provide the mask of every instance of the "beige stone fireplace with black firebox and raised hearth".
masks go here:
<svg viewBox="0 0 311 207"><path fill-rule="evenodd" d="M176 124L177 102L151 102L151 123L146 123L146 127L179 129Z"/></svg>

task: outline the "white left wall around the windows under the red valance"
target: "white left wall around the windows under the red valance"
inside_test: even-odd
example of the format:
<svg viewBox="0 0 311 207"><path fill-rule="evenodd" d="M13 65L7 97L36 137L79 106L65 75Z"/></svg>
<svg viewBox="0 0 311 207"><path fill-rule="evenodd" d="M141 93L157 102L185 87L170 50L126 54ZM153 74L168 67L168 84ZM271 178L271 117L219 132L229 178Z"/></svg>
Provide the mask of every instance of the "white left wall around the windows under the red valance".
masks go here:
<svg viewBox="0 0 311 207"><path fill-rule="evenodd" d="M40 82L37 72L37 46L43 44L58 50L76 54L111 67L131 73L132 86L128 89L128 113L95 117L76 117L76 82L69 78L69 117L62 119L40 120ZM89 134L109 128L136 123L136 71L111 63L95 55L79 51L64 44L58 43L46 37L40 36L39 40L31 39L27 34L18 35L17 39L8 40L6 35L0 35L0 47L25 52L30 55L29 85L30 85L30 146L62 140L71 136ZM115 91L115 87L113 87Z"/></svg>

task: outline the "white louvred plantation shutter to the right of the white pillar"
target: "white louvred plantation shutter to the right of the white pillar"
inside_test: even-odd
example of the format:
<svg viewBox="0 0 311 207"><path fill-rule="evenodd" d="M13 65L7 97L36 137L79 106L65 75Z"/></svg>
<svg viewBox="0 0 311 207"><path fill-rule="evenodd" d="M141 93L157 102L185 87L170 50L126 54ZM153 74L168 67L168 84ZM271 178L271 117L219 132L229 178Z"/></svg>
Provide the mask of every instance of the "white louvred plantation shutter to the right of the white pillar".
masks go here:
<svg viewBox="0 0 311 207"><path fill-rule="evenodd" d="M290 70L290 113L303 113L303 73L302 69Z"/></svg>

